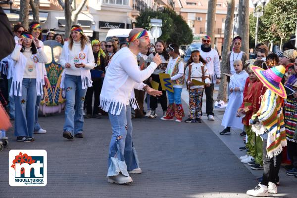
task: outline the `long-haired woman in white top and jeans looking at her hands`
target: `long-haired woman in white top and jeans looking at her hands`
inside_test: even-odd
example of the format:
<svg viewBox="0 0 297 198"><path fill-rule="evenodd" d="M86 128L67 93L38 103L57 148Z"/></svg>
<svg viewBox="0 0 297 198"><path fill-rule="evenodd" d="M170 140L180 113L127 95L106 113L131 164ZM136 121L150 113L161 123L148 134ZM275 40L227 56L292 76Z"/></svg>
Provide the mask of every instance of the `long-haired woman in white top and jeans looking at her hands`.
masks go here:
<svg viewBox="0 0 297 198"><path fill-rule="evenodd" d="M83 138L83 108L87 88L92 86L90 70L95 67L90 40L79 25L71 27L71 34L64 43L60 56L64 68L60 87L66 91L65 123L63 137Z"/></svg>

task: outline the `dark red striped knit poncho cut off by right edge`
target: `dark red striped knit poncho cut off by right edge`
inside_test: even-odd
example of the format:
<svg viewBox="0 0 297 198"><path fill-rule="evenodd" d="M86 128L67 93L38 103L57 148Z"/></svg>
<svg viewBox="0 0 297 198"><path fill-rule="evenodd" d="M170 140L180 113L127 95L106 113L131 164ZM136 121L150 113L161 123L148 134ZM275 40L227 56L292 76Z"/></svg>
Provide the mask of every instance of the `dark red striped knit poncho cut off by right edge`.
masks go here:
<svg viewBox="0 0 297 198"><path fill-rule="evenodd" d="M297 126L297 98L285 100L285 123L287 140L297 143L297 140L293 139Z"/></svg>

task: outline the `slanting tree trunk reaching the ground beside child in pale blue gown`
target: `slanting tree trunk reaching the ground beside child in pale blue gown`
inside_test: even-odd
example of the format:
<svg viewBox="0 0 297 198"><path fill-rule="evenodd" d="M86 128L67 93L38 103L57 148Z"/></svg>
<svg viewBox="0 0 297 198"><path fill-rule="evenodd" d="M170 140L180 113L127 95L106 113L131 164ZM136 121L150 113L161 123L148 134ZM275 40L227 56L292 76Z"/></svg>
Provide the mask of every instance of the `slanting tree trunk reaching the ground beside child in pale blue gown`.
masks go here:
<svg viewBox="0 0 297 198"><path fill-rule="evenodd" d="M221 74L229 73L227 68L228 63L228 53L230 50L232 27L234 20L234 9L235 0L227 0L227 15L225 21L225 32L224 32L224 46L222 52L222 64L221 64ZM227 78L225 75L221 75L221 83L219 86L218 100L227 101Z"/></svg>

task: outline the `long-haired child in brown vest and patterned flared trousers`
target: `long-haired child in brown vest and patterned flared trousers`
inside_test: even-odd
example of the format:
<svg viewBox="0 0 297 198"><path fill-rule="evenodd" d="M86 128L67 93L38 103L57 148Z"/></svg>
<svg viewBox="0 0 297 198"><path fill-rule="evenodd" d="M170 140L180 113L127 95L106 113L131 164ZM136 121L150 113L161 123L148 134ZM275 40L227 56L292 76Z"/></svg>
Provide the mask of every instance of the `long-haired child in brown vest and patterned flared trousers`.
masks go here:
<svg viewBox="0 0 297 198"><path fill-rule="evenodd" d="M191 80L204 81L207 84L205 86L210 86L209 74L205 65L206 61L200 56L199 50L192 51L188 67L185 71L185 79L189 89L189 118L185 120L188 123L201 122L200 103L204 86L194 85Z"/></svg>

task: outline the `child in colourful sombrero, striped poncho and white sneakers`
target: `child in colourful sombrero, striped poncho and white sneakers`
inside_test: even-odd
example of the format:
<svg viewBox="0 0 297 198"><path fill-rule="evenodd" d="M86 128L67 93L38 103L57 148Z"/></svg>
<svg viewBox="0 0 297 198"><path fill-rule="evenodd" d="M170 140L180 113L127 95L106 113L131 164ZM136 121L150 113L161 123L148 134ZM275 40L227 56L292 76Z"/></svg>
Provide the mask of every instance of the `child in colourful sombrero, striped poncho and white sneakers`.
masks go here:
<svg viewBox="0 0 297 198"><path fill-rule="evenodd" d="M247 194L268 197L268 193L277 193L276 183L282 160L282 147L287 146L282 105L287 93L281 83L286 69L282 65L266 71L257 66L251 66L251 69L267 90L262 97L259 111L249 120L252 130L263 138L263 177L261 183L248 190Z"/></svg>

